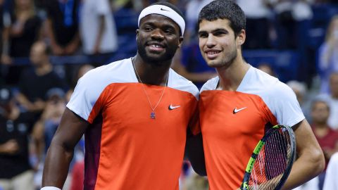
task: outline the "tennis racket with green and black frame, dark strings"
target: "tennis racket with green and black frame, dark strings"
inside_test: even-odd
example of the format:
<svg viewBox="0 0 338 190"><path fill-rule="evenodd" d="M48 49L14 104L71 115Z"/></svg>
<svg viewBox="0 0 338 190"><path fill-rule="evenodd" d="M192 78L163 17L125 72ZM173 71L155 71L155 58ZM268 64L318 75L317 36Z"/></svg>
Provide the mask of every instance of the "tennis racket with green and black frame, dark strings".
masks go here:
<svg viewBox="0 0 338 190"><path fill-rule="evenodd" d="M295 155L296 140L291 127L275 125L268 129L251 155L240 189L281 189Z"/></svg>

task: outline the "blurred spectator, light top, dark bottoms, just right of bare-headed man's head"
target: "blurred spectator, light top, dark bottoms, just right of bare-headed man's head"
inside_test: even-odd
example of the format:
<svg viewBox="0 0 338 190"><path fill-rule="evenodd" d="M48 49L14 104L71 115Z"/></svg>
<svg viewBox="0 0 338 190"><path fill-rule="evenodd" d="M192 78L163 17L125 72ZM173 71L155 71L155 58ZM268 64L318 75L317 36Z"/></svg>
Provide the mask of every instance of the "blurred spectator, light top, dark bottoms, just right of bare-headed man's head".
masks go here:
<svg viewBox="0 0 338 190"><path fill-rule="evenodd" d="M270 8L268 0L237 0L246 15L246 42L243 49L270 47Z"/></svg>

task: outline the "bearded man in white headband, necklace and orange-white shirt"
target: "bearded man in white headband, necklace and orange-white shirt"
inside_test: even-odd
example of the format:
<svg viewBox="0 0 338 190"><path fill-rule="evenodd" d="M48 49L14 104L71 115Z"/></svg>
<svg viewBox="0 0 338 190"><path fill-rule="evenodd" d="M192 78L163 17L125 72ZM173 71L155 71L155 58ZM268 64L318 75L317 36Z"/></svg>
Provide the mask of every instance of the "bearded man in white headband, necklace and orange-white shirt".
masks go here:
<svg viewBox="0 0 338 190"><path fill-rule="evenodd" d="M187 126L196 129L199 90L170 69L184 33L165 2L144 8L137 55L77 82L46 156L42 189L61 189L84 134L84 189L178 189Z"/></svg>

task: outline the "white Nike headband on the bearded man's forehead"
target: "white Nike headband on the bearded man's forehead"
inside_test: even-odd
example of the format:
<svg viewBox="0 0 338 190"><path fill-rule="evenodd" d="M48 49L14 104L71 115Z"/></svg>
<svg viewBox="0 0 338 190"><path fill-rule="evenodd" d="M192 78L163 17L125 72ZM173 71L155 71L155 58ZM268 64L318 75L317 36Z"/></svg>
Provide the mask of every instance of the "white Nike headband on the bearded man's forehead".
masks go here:
<svg viewBox="0 0 338 190"><path fill-rule="evenodd" d="M180 26L181 34L183 36L184 34L184 28L185 28L185 22L181 15L179 15L176 11L174 11L172 8L168 6L163 5L152 5L148 6L147 8L144 8L143 11L139 14L139 21L144 18L146 15L151 14L158 14L158 15L164 15L171 20L174 20L177 25ZM138 22L139 25L139 22Z"/></svg>

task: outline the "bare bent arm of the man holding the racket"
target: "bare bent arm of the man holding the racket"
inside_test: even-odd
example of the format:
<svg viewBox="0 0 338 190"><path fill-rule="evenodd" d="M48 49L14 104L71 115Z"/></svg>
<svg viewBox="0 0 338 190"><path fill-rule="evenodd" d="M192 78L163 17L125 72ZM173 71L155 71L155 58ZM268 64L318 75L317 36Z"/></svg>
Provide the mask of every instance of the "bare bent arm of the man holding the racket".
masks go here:
<svg viewBox="0 0 338 190"><path fill-rule="evenodd" d="M282 189L293 189L324 170L325 159L318 141L306 120L299 122L294 127L296 136L297 159L292 166L290 175Z"/></svg>

